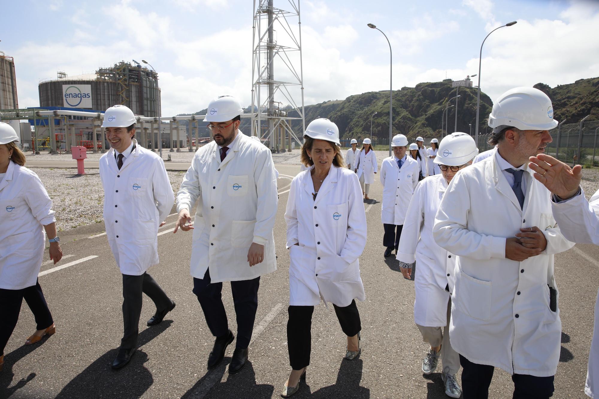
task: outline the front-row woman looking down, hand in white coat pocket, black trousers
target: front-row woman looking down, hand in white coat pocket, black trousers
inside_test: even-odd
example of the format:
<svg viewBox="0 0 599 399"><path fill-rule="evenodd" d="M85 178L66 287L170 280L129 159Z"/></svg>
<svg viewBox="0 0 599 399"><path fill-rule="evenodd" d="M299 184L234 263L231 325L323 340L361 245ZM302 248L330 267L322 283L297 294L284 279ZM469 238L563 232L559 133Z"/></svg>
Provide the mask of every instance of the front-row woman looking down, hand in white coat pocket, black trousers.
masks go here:
<svg viewBox="0 0 599 399"><path fill-rule="evenodd" d="M365 300L358 257L366 245L366 214L358 177L344 168L337 125L319 118L304 134L302 161L310 169L291 182L285 211L289 248L291 374L281 393L295 394L310 364L311 319L322 299L333 304L347 335L345 358L361 353L356 299ZM327 305L328 307L328 305Z"/></svg>

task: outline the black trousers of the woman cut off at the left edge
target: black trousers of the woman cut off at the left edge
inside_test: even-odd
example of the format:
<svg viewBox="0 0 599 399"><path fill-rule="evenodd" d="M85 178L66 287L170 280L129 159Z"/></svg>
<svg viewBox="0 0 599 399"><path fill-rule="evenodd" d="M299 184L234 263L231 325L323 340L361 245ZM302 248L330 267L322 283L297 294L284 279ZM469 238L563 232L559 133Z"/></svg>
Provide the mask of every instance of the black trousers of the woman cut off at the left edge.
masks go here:
<svg viewBox="0 0 599 399"><path fill-rule="evenodd" d="M44 330L54 323L39 282L23 289L0 288L0 355L4 355L8 338L17 325L23 298L35 316L36 330Z"/></svg>

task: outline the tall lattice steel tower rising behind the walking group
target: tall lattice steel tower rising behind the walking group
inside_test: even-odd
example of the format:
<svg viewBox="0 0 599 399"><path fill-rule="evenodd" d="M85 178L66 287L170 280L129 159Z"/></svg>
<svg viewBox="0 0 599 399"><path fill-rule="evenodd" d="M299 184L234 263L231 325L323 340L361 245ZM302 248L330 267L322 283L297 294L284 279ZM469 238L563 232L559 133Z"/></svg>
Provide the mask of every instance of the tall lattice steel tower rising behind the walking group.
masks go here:
<svg viewBox="0 0 599 399"><path fill-rule="evenodd" d="M275 8L273 0L254 0L253 8L252 135L268 140L270 149L277 152L285 150L286 138L289 149L292 137L303 143L292 131L291 119L301 120L299 137L305 130L299 0L288 0L288 4L291 11ZM292 28L295 19L298 25ZM283 67L277 71L278 80L274 78L275 60ZM297 115L289 116L292 111Z"/></svg>

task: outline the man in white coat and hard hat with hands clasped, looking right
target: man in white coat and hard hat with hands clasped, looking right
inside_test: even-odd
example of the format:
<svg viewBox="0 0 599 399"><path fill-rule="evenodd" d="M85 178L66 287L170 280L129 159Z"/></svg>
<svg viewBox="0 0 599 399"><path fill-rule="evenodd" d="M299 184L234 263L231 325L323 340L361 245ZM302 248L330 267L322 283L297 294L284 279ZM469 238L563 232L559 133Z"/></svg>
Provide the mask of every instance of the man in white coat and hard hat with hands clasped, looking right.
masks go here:
<svg viewBox="0 0 599 399"><path fill-rule="evenodd" d="M574 244L528 159L544 152L558 122L547 95L516 87L495 101L488 123L497 150L453 177L433 227L437 244L458 255L449 335L464 399L488 397L494 367L512 374L514 398L549 398L561 342L553 255Z"/></svg>

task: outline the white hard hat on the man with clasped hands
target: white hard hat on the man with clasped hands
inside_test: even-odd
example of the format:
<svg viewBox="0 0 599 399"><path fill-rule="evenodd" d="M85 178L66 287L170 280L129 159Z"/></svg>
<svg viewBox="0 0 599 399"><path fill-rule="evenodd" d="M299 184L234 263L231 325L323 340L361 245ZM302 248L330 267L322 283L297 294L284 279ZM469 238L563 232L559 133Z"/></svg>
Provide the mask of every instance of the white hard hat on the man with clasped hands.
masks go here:
<svg viewBox="0 0 599 399"><path fill-rule="evenodd" d="M507 127L549 130L558 125L553 119L551 100L534 87L516 87L500 95L493 104L488 123L494 133Z"/></svg>

